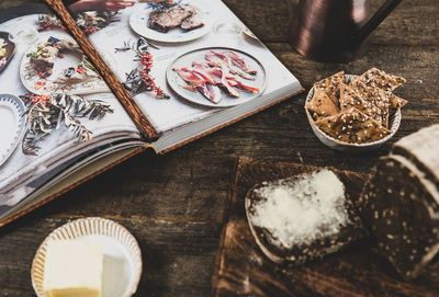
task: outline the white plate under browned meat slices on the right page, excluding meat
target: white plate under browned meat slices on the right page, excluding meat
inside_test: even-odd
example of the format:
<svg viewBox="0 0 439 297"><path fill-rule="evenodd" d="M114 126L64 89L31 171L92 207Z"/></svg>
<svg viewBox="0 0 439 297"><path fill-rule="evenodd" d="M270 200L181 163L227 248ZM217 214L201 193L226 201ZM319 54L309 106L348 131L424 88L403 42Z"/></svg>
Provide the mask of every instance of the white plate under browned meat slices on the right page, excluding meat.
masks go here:
<svg viewBox="0 0 439 297"><path fill-rule="evenodd" d="M209 32L211 32L211 24L209 22L209 15L204 12L200 13L203 15L204 26L192 30L192 31L183 31L181 28L172 28L167 33L158 32L148 27L149 15L154 10L150 8L142 8L136 10L130 16L130 25L138 35L159 43L187 43L200 37L203 37Z"/></svg>

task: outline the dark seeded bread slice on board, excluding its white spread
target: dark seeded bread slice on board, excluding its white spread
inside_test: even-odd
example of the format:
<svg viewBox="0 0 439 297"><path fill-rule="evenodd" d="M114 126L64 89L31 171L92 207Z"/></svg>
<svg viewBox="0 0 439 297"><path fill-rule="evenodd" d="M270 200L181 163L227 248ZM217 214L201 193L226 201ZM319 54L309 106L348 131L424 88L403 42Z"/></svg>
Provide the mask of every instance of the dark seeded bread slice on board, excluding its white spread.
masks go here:
<svg viewBox="0 0 439 297"><path fill-rule="evenodd" d="M256 205L263 199L258 190L266 186L286 185L293 186L299 179L306 178L314 172L304 173L297 176L292 176L284 180L268 182L256 185L251 189L246 196L246 212L249 221L250 230L256 239L256 242L262 252L273 262L282 263L288 262L291 264L302 264L306 261L314 260L327 255L329 253L339 251L351 242L354 242L367 236L365 228L363 227L357 212L354 210L352 198L357 198L361 193L363 180L361 175L356 173L347 173L344 171L331 171L341 181L345 186L345 202L344 209L346 210L348 222L340 227L337 233L331 236L316 237L311 242L294 244L291 248L285 248L280 243L273 241L273 233L266 228L260 228L252 224L251 216L256 212ZM297 221L300 224L300 221Z"/></svg>

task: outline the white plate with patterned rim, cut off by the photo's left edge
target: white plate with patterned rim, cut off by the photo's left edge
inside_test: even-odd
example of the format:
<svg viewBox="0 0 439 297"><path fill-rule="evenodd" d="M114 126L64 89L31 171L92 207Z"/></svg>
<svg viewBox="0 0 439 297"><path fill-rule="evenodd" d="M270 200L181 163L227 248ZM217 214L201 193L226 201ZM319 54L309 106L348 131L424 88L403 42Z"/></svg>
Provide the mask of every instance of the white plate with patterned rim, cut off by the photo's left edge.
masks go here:
<svg viewBox="0 0 439 297"><path fill-rule="evenodd" d="M24 103L14 95L0 94L0 168L20 144L25 127Z"/></svg>

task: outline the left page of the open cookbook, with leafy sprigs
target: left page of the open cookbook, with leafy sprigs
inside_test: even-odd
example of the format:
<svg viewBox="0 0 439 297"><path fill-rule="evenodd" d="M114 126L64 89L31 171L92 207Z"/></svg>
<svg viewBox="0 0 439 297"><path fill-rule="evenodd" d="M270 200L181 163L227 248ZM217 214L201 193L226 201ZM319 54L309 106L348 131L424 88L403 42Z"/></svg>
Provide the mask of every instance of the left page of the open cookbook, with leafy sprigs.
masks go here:
<svg viewBox="0 0 439 297"><path fill-rule="evenodd" d="M44 1L0 11L0 206L113 139L139 138L117 99Z"/></svg>

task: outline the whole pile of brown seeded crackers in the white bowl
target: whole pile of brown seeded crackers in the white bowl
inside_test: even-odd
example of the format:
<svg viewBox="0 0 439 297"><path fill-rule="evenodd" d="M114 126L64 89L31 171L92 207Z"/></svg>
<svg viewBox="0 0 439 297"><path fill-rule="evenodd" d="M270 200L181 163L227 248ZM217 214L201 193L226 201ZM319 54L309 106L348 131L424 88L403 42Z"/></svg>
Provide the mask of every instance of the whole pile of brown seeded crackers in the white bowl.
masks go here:
<svg viewBox="0 0 439 297"><path fill-rule="evenodd" d="M407 104L393 94L405 82L376 68L347 82L341 71L314 84L306 108L328 136L349 144L373 142L391 134L391 116Z"/></svg>

